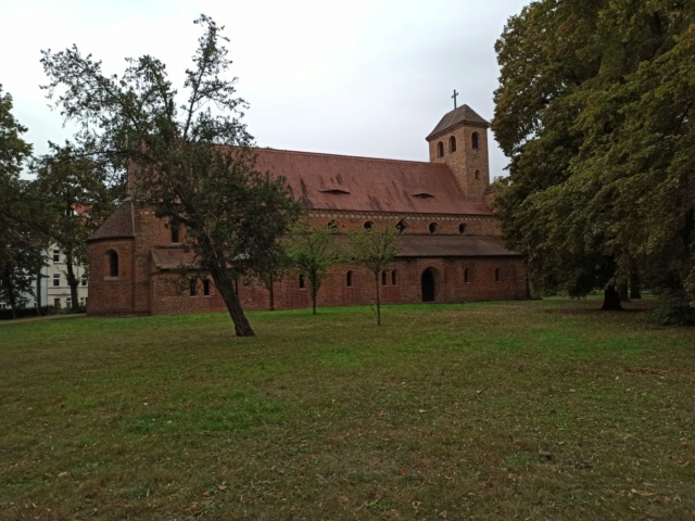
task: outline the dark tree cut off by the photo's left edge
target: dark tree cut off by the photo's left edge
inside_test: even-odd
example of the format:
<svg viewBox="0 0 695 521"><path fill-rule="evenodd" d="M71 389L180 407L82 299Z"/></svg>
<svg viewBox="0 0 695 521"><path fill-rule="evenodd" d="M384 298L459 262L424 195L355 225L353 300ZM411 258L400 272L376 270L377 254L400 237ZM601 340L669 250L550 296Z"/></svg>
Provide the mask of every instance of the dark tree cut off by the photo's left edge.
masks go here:
<svg viewBox="0 0 695 521"><path fill-rule="evenodd" d="M31 182L20 177L31 154L24 132L12 115L12 97L0 86L0 300L13 314L34 294L43 239L41 202Z"/></svg>

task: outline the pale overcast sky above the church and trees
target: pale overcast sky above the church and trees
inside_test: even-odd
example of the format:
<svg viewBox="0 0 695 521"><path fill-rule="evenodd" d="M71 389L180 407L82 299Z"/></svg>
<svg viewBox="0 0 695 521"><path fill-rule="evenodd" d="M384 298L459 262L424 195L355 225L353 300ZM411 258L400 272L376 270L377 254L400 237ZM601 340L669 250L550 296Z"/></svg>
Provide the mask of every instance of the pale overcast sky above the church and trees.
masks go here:
<svg viewBox="0 0 695 521"><path fill-rule="evenodd" d="M425 137L453 106L493 116L494 53L529 0L0 0L0 84L35 152L63 141L39 85L40 50L73 43L121 73L151 54L175 85L201 13L226 26L245 122L261 147L428 161ZM490 135L492 140L492 134ZM491 143L491 177L507 161Z"/></svg>

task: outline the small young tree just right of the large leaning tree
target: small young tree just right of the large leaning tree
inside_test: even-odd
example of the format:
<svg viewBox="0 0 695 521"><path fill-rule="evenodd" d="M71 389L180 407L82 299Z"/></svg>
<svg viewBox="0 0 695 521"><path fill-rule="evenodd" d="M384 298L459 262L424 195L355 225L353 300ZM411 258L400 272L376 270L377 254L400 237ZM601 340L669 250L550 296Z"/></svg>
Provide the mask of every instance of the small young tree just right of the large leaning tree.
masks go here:
<svg viewBox="0 0 695 521"><path fill-rule="evenodd" d="M326 228L311 230L307 223L300 223L290 234L288 255L290 264L308 279L312 314L316 315L318 290L339 257L336 234Z"/></svg>

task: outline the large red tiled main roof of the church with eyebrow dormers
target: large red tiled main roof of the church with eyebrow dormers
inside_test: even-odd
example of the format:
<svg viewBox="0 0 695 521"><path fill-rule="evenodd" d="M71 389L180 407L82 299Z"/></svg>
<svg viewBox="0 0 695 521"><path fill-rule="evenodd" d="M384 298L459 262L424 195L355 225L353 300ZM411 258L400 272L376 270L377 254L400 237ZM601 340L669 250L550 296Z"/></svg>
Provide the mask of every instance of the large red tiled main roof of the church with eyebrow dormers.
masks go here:
<svg viewBox="0 0 695 521"><path fill-rule="evenodd" d="M285 176L311 209L491 215L465 201L446 165L257 149L256 168Z"/></svg>

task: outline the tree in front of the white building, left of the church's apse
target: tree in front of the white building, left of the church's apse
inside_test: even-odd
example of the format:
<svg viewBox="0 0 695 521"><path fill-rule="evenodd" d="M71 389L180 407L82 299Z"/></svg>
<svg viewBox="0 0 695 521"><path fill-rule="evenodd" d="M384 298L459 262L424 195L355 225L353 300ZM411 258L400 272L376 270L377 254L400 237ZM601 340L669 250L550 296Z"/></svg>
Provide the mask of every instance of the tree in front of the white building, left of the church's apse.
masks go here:
<svg viewBox="0 0 695 521"><path fill-rule="evenodd" d="M76 312L80 282L77 267L89 269L87 239L115 209L114 190L108 186L106 168L67 143L64 147L51 143L51 153L39 157L33 169L50 212L50 240L65 254L64 275Z"/></svg>

